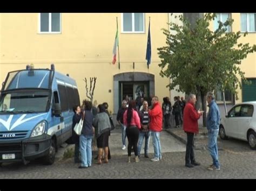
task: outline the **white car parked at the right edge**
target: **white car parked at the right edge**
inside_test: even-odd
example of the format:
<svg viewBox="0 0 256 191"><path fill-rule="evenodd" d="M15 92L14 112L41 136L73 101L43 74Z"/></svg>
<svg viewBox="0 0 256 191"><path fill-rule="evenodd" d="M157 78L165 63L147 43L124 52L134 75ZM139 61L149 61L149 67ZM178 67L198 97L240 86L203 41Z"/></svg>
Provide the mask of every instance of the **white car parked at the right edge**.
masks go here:
<svg viewBox="0 0 256 191"><path fill-rule="evenodd" d="M225 118L220 121L221 139L233 137L246 140L256 149L256 101L235 104Z"/></svg>

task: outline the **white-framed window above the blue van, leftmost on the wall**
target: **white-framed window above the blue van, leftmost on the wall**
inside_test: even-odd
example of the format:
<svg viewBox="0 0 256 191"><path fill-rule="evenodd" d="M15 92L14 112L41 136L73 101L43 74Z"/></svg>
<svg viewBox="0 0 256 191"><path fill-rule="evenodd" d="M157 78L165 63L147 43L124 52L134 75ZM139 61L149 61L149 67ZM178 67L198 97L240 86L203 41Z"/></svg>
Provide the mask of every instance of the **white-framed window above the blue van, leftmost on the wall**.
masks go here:
<svg viewBox="0 0 256 191"><path fill-rule="evenodd" d="M39 13L40 33L60 33L60 13Z"/></svg>

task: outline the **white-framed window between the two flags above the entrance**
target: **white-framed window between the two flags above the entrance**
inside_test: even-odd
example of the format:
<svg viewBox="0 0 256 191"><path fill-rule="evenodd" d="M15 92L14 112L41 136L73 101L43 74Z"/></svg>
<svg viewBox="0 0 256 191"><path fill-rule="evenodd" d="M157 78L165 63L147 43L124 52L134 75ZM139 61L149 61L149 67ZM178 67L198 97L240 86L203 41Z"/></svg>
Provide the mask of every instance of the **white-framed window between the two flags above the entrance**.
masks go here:
<svg viewBox="0 0 256 191"><path fill-rule="evenodd" d="M122 32L124 33L144 33L145 32L144 13L122 13Z"/></svg>

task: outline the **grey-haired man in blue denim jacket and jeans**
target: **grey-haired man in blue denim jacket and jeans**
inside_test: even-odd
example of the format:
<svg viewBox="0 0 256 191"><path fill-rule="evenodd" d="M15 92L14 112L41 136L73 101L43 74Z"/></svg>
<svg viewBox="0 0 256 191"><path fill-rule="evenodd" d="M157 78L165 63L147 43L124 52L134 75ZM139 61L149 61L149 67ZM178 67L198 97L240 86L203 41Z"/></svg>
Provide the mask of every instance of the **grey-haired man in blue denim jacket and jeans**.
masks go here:
<svg viewBox="0 0 256 191"><path fill-rule="evenodd" d="M218 105L214 101L214 94L209 91L206 95L209 112L206 119L206 127L208 130L208 150L212 156L213 164L208 167L209 170L219 170L219 154L217 146L217 137L220 125L220 111Z"/></svg>

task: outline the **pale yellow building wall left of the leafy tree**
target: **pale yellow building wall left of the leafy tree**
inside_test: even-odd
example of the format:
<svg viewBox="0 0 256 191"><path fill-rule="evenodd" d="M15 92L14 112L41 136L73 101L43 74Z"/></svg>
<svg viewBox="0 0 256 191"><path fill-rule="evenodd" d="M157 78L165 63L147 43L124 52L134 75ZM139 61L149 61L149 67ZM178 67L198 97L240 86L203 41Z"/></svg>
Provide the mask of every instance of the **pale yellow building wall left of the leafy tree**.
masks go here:
<svg viewBox="0 0 256 191"><path fill-rule="evenodd" d="M118 60L112 65L112 49L119 25ZM146 66L146 44L151 18L152 57ZM155 76L155 93L160 101L169 96L167 78L160 77L157 48L165 45L161 29L167 27L168 13L145 13L145 33L121 33L121 13L62 13L60 34L39 34L38 13L0 14L0 82L9 71L24 69L33 63L35 68L50 68L68 73L78 84L80 100L86 98L84 77L97 77L95 97L98 103L108 102L113 112L113 75L124 72L146 72ZM133 62L134 69L133 69ZM109 93L111 90L111 93Z"/></svg>

